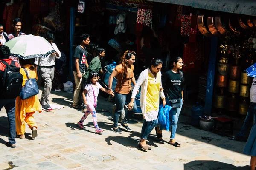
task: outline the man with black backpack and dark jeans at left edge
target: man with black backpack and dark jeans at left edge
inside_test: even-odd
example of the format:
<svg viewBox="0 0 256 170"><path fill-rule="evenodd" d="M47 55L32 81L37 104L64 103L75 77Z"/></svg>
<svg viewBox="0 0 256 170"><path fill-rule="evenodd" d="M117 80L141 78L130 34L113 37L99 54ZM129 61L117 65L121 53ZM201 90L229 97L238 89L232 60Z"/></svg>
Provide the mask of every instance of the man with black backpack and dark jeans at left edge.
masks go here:
<svg viewBox="0 0 256 170"><path fill-rule="evenodd" d="M12 61L10 49L5 45L0 46L0 111L6 109L9 122L9 142L7 147L15 146L16 125L15 125L15 99L20 94L23 76L17 62Z"/></svg>

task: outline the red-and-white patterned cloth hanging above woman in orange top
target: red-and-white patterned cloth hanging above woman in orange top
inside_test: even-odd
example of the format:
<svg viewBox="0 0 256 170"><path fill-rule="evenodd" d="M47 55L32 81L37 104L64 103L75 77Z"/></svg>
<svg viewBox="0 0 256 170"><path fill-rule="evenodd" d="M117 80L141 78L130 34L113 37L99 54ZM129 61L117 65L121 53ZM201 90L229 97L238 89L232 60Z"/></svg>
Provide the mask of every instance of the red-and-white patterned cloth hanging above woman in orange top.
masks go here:
<svg viewBox="0 0 256 170"><path fill-rule="evenodd" d="M152 29L151 9L138 9L136 22L145 26L149 26Z"/></svg>

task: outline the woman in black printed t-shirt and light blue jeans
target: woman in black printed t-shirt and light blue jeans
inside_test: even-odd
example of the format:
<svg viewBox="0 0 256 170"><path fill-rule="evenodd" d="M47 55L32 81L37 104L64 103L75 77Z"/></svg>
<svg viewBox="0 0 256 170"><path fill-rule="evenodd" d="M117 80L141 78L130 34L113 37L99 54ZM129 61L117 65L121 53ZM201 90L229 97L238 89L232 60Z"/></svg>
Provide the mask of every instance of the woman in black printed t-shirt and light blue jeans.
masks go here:
<svg viewBox="0 0 256 170"><path fill-rule="evenodd" d="M166 73L163 76L163 84L166 85L165 88L167 94L166 105L172 106L170 101L173 99L177 99L177 101L180 101L180 107L172 108L171 111L169 112L171 131L169 144L172 144L175 147L180 147L180 144L178 142L175 142L174 138L177 130L177 123L180 116L180 111L183 104L184 75L183 72L181 71L183 61L181 57L174 57L171 63L171 70L166 71ZM158 139L162 139L163 129L163 126L155 128Z"/></svg>

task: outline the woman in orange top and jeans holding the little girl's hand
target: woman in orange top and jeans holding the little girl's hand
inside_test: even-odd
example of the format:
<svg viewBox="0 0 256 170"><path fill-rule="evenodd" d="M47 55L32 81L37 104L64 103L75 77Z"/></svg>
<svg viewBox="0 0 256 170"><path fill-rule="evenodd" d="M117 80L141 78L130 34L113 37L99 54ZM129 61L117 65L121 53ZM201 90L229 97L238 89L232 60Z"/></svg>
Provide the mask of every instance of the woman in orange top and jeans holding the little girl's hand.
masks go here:
<svg viewBox="0 0 256 170"><path fill-rule="evenodd" d="M122 133L118 128L118 120L122 109L124 108L125 102L129 103L131 101L131 82L136 85L134 78L134 65L136 53L134 51L125 51L122 57L122 63L117 65L115 70L109 77L108 81L108 94L112 94L112 82L113 78L117 78L116 88L115 88L115 99L116 99L116 113L114 115L114 127L113 131L116 133ZM125 130L131 132L131 129L128 127L128 119L131 118L134 111L137 110L136 103L134 102L134 107L131 111L125 115L125 119L121 122L121 126Z"/></svg>

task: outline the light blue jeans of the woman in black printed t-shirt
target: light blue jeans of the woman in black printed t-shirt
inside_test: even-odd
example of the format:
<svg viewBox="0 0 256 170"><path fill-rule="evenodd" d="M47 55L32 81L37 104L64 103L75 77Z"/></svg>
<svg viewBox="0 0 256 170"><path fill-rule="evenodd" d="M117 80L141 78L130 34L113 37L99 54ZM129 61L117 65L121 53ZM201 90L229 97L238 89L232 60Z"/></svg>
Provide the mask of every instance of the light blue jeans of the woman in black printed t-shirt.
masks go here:
<svg viewBox="0 0 256 170"><path fill-rule="evenodd" d="M168 99L166 100L166 105L169 105L169 106L172 105L171 102ZM171 131L171 137L170 137L171 139L175 138L175 133L176 133L176 130L177 130L177 123L178 123L178 120L179 120L182 105L183 105L183 99L180 99L180 108L172 108L169 111L169 119L170 119L170 129L169 129L169 131ZM163 130L163 129L164 129L163 126L160 126L160 130Z"/></svg>

